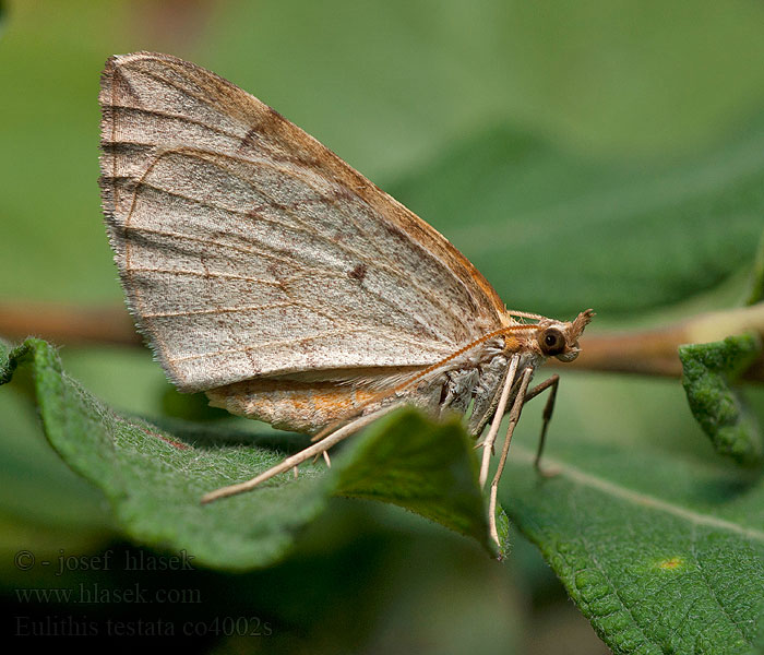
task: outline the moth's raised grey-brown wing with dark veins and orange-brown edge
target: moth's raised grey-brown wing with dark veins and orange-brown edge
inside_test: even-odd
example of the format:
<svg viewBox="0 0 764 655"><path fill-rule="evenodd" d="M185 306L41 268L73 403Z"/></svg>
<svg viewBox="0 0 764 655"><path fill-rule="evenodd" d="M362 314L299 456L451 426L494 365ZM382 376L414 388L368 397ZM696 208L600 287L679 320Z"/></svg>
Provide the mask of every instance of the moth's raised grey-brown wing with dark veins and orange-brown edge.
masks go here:
<svg viewBox="0 0 764 655"><path fill-rule="evenodd" d="M440 234L234 84L138 52L108 60L99 100L120 277L181 391L427 366L501 324Z"/></svg>

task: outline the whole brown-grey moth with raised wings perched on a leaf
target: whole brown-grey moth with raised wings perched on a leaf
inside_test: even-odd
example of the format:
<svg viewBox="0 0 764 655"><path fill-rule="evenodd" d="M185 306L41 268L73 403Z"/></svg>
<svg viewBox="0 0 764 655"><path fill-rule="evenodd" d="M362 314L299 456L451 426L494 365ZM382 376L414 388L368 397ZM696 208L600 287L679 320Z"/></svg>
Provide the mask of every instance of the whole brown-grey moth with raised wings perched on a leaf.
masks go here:
<svg viewBox="0 0 764 655"><path fill-rule="evenodd" d="M100 189L128 306L167 377L214 406L314 434L251 489L401 405L458 412L482 439L575 359L594 312L508 310L443 236L271 107L169 55L111 57L99 95ZM327 458L327 457L326 457ZM329 460L327 460L329 461Z"/></svg>

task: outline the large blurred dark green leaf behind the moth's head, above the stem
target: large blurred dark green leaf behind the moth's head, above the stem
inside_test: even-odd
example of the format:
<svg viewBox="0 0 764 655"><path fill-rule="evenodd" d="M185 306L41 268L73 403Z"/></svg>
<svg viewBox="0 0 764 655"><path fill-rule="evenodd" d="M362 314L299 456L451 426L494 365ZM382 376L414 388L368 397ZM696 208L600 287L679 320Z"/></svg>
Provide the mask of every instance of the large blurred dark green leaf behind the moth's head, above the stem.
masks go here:
<svg viewBox="0 0 764 655"><path fill-rule="evenodd" d="M661 164L571 154L499 126L386 190L512 309L634 315L748 273L764 215L764 123Z"/></svg>

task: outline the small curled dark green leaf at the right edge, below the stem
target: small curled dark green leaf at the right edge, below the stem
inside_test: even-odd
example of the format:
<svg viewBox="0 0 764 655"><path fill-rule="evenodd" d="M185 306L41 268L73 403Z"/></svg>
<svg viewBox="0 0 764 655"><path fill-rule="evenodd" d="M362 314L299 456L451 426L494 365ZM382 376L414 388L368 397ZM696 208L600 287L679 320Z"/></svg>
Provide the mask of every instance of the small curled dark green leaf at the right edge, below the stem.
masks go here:
<svg viewBox="0 0 764 655"><path fill-rule="evenodd" d="M749 466L762 462L762 437L756 417L733 384L761 352L755 334L679 346L682 384L695 420L716 452Z"/></svg>

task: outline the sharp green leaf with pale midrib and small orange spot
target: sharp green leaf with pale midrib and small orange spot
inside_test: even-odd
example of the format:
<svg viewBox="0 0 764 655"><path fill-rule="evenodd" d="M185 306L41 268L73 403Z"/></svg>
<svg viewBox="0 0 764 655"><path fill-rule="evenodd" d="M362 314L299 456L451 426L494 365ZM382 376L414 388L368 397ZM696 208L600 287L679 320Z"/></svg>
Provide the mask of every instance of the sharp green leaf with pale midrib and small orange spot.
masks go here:
<svg viewBox="0 0 764 655"><path fill-rule="evenodd" d="M764 610L764 481L659 451L578 442L501 499L614 653L748 653Z"/></svg>

